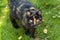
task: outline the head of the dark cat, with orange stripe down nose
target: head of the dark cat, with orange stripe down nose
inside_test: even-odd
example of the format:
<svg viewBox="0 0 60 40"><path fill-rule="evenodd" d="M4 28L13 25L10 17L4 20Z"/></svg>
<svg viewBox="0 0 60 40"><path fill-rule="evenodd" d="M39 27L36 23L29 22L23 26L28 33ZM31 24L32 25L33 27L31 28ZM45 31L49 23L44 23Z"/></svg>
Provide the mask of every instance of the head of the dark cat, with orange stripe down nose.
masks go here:
<svg viewBox="0 0 60 40"><path fill-rule="evenodd" d="M36 10L35 8L31 7L30 9L26 10L26 18L28 24L30 26L37 26L42 21L42 14L40 11Z"/></svg>

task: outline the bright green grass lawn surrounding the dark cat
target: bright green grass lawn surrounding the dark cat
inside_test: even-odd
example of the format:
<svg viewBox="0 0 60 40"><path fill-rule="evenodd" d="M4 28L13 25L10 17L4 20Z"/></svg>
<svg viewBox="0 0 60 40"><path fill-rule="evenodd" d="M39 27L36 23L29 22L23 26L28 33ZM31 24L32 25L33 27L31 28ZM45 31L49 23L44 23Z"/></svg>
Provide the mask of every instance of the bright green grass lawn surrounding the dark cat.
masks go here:
<svg viewBox="0 0 60 40"><path fill-rule="evenodd" d="M60 0L30 0L30 2L42 11L43 22L37 27L35 36L47 37L48 40L60 40ZM45 27L46 25L46 27ZM44 28L48 33L44 34ZM9 8L7 0L0 0L0 40L30 40L29 36L24 34L24 29L13 28L9 18Z"/></svg>

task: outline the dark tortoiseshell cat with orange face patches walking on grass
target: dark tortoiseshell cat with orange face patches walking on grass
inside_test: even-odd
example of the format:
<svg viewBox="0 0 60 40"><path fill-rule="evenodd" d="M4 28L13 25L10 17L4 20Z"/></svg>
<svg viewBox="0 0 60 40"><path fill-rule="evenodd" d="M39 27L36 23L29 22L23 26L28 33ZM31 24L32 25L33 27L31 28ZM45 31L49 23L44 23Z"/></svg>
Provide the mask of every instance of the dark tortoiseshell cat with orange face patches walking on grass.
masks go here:
<svg viewBox="0 0 60 40"><path fill-rule="evenodd" d="M34 37L36 27L42 22L41 11L27 0L8 0L10 19L14 28L19 28L16 20L21 21L25 33ZM20 24L21 25L21 24Z"/></svg>

